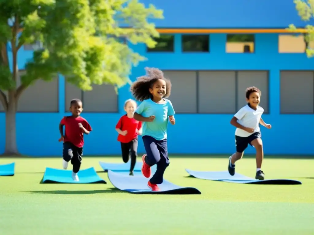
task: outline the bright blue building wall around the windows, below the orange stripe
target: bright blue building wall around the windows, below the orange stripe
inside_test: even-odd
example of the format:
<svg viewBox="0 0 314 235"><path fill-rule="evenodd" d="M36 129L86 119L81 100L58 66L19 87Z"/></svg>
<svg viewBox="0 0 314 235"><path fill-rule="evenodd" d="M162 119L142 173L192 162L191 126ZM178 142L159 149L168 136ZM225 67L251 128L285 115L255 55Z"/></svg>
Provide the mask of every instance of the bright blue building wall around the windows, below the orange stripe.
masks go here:
<svg viewBox="0 0 314 235"><path fill-rule="evenodd" d="M154 66L161 70L269 70L270 114L265 114L263 119L272 124L273 128L268 130L262 127L265 154L314 154L312 136L310 136L311 130L314 129L314 115L279 114L279 71L314 70L313 60L308 59L305 54L279 54L277 34L256 34L254 54L226 54L225 42L225 34L211 34L210 53L184 54L181 52L181 35L176 34L175 52L166 53L166 56L164 53L146 53L146 48L142 44L133 45L133 50L146 56L148 61L133 68L131 79L134 80L137 76L143 75L145 66ZM25 60L31 56L32 53L29 51L22 49L19 52L20 69L24 68ZM59 113L17 114L17 144L22 154L53 156L60 155L62 152L62 144L58 142L58 124L66 115L63 112L65 110L65 85L64 78L60 76L59 79ZM128 98L131 98L129 86L124 86L119 90L120 113L83 112L82 116L87 118L94 129L85 138L84 154L120 154L115 125L124 113L123 103ZM169 152L176 154L233 153L235 128L229 124L231 118L232 114L177 114L176 125L169 126ZM4 113L0 113L0 128L2 130L5 128ZM4 141L3 134L0 137L0 153L4 151ZM141 140L138 152L144 152ZM246 153L255 153L255 151L249 148Z"/></svg>

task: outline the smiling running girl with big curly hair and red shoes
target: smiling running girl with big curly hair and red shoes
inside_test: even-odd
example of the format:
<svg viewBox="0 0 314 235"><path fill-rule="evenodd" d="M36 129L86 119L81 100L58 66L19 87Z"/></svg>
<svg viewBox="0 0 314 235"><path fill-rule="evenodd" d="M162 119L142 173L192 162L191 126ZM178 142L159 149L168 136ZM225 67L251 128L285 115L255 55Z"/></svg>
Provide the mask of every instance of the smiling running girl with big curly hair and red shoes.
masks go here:
<svg viewBox="0 0 314 235"><path fill-rule="evenodd" d="M134 119L143 122L143 143L146 154L143 155L142 174L149 178L150 167L157 165L157 170L148 181L152 191L159 191L158 184L163 182L166 168L169 166L167 147L168 117L170 123L176 123L170 100L171 82L165 79L159 69L145 68L147 76L137 79L131 86L136 100L142 101L134 113Z"/></svg>

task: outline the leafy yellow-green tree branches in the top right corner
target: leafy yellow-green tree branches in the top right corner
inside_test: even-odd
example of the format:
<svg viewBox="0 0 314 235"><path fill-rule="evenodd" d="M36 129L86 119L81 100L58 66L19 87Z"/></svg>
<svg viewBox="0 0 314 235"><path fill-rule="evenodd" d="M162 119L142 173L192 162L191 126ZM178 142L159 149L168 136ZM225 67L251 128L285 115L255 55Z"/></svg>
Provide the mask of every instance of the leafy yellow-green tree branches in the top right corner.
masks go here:
<svg viewBox="0 0 314 235"><path fill-rule="evenodd" d="M294 0L293 2L295 3L295 9L302 20L310 21L310 19L313 19L314 0ZM294 33L303 33L306 45L310 45L310 43L314 41L314 26L311 24L307 24L303 30L297 29L294 24L290 24L288 30ZM314 48L307 46L305 51L307 57L313 57Z"/></svg>

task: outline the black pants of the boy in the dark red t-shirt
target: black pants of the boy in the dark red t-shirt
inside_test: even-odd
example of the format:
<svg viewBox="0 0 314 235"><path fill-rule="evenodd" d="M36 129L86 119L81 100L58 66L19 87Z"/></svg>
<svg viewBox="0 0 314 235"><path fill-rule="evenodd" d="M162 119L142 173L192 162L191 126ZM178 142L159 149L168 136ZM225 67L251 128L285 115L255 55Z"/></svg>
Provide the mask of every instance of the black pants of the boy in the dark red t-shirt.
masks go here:
<svg viewBox="0 0 314 235"><path fill-rule="evenodd" d="M70 155L71 150L72 150L73 156ZM82 156L83 156L83 148L78 148L71 142L63 143L63 159L67 162L71 160L74 173L78 173L81 167Z"/></svg>

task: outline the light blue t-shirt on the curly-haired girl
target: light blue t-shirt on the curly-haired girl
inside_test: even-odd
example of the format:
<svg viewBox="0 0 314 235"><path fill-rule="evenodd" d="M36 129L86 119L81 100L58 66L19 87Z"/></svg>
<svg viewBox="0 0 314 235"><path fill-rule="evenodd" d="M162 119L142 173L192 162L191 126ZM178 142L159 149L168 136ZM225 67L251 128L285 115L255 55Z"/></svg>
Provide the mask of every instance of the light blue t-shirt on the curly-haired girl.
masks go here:
<svg viewBox="0 0 314 235"><path fill-rule="evenodd" d="M174 115L176 112L173 109L171 101L164 100L164 104L157 104L151 99L144 100L135 110L136 113L142 115L144 118L155 116L154 121L143 122L142 136L148 135L156 140L167 138L168 117Z"/></svg>

